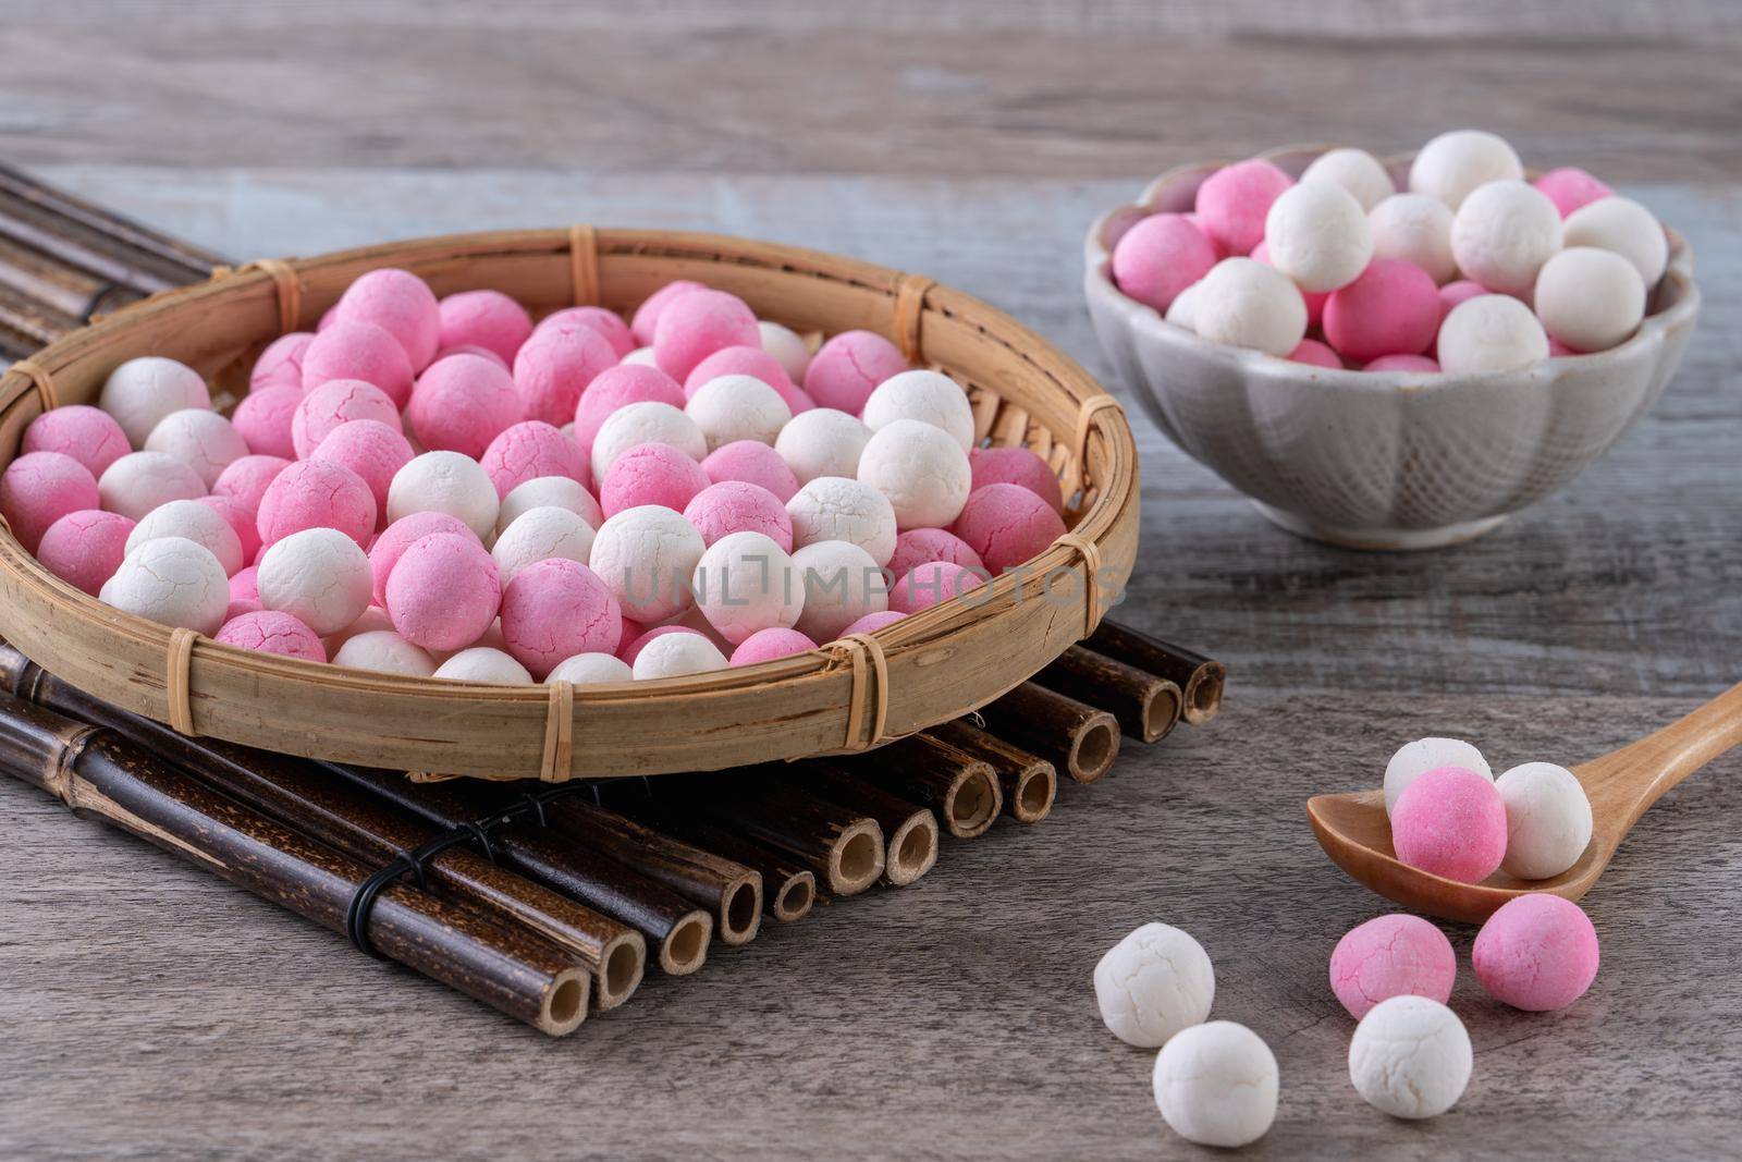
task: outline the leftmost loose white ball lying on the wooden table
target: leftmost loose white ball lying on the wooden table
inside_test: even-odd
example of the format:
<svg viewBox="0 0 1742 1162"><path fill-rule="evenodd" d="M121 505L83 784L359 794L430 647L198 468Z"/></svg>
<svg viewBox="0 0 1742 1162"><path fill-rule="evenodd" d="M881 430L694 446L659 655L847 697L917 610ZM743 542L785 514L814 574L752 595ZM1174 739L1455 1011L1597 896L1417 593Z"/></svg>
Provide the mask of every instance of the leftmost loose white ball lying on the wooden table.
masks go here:
<svg viewBox="0 0 1742 1162"><path fill-rule="evenodd" d="M1209 1019L1216 970L1188 932L1146 923L1096 963L1094 998L1113 1037L1160 1049L1179 1030Z"/></svg>

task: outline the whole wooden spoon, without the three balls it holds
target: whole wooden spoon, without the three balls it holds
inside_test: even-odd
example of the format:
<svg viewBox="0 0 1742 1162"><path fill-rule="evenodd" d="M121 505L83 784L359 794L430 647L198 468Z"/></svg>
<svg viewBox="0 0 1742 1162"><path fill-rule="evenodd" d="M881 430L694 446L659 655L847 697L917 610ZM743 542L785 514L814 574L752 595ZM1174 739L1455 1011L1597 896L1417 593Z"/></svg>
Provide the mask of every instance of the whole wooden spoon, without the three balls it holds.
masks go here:
<svg viewBox="0 0 1742 1162"><path fill-rule="evenodd" d="M1306 817L1331 861L1380 895L1430 916L1479 923L1526 892L1583 897L1639 815L1737 744L1742 744L1742 685L1653 735L1575 767L1590 796L1594 826L1585 854L1552 880L1519 880L1496 871L1481 883L1460 883L1401 862L1392 848L1383 791L1315 794L1306 800Z"/></svg>

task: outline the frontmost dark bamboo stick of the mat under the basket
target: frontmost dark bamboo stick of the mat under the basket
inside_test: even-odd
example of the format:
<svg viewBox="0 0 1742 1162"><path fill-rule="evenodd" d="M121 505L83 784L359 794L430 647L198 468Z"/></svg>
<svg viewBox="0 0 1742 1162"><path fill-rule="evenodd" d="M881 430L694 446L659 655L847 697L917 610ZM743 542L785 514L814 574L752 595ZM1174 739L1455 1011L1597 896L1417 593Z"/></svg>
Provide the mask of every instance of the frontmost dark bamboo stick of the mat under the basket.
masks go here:
<svg viewBox="0 0 1742 1162"><path fill-rule="evenodd" d="M185 861L314 920L345 930L373 868L202 787L103 726L77 723L0 693L0 768ZM368 916L369 942L449 988L561 1037L587 1016L591 976L531 932L395 883Z"/></svg>

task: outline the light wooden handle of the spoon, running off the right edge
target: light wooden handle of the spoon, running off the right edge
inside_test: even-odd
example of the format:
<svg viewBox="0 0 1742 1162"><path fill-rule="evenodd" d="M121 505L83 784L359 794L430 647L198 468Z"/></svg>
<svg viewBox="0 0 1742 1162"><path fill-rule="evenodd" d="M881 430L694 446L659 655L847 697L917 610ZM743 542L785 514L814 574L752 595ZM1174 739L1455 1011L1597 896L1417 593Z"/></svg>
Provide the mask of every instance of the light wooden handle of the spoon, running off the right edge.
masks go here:
<svg viewBox="0 0 1742 1162"><path fill-rule="evenodd" d="M1742 744L1742 683L1697 711L1578 768L1592 812L1625 833L1665 791Z"/></svg>

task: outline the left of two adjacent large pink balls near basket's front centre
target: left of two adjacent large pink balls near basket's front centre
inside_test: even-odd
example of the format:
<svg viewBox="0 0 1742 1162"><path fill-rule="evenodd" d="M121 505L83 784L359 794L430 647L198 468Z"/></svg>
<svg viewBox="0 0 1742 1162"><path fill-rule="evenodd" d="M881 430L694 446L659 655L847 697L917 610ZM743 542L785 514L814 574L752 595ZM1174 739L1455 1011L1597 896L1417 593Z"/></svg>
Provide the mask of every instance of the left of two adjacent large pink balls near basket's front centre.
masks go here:
<svg viewBox="0 0 1742 1162"><path fill-rule="evenodd" d="M415 540L387 575L394 629L425 650L472 645L496 620L500 605L496 561L477 537L434 533Z"/></svg>

